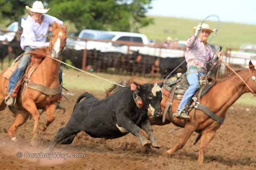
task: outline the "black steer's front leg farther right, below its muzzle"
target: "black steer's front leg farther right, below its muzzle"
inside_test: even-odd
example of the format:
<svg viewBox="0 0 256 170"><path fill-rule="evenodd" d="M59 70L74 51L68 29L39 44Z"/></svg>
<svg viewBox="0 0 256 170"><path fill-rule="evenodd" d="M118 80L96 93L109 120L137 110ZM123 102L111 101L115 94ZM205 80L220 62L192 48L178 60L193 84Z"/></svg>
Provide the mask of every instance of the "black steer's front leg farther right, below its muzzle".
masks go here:
<svg viewBox="0 0 256 170"><path fill-rule="evenodd" d="M153 128L150 124L150 120L147 117L147 119L142 123L141 125L142 129L145 130L146 133L149 135L150 142L152 144L152 147L155 147L157 149L160 148L160 145L157 142L157 138L154 136Z"/></svg>

